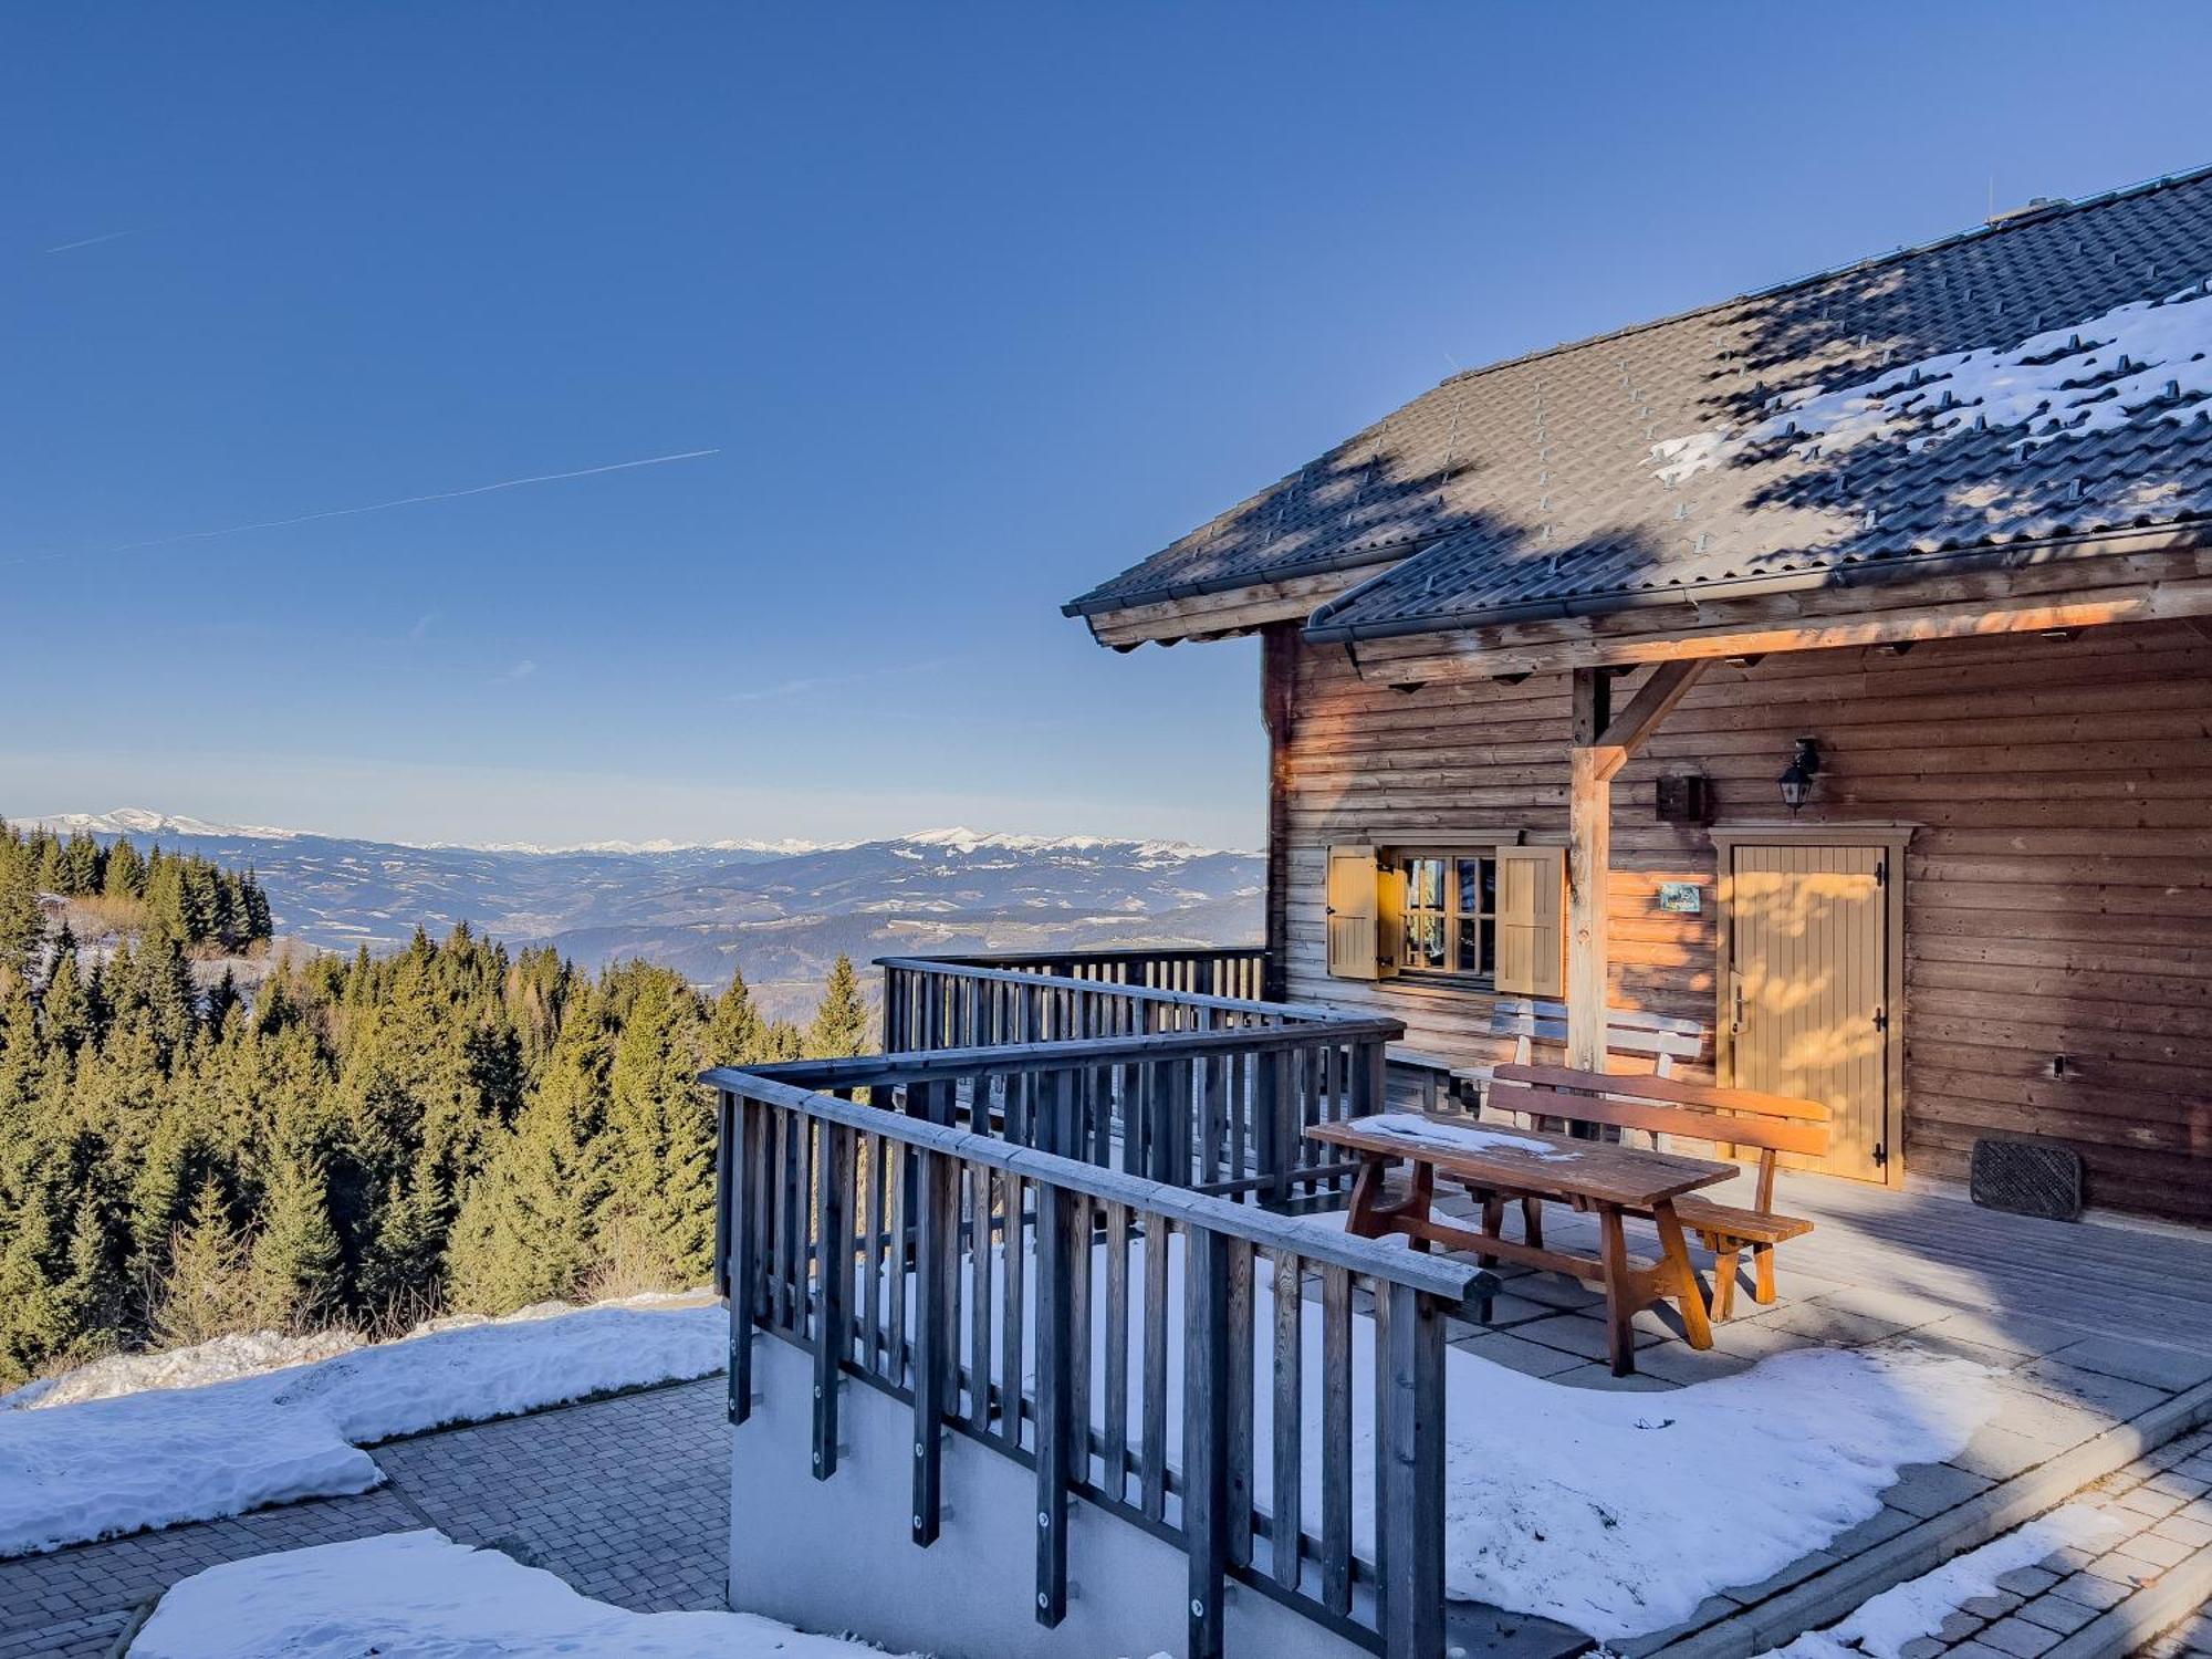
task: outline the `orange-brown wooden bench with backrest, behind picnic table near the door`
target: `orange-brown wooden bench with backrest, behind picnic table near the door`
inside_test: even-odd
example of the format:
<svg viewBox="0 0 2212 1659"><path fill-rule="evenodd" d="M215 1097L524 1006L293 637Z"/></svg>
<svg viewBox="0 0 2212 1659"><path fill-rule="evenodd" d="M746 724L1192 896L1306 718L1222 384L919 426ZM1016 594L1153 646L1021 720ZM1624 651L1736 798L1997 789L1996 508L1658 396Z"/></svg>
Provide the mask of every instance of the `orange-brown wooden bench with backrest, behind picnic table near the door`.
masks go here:
<svg viewBox="0 0 2212 1659"><path fill-rule="evenodd" d="M1513 1117L1564 1117L1666 1135L1674 1141L1759 1148L1750 1206L1683 1197L1674 1217L1714 1254L1712 1316L1728 1318L1736 1301L1736 1263L1752 1252L1752 1296L1774 1301L1774 1245L1812 1232L1812 1221L1774 1212L1774 1172L1783 1152L1827 1152L1827 1106L1750 1088L1717 1088L1681 1077L1621 1077L1568 1066L1498 1066L1486 1106ZM1524 1194L1511 1194L1524 1197ZM1498 1230L1502 1194L1484 1199L1484 1228ZM1524 1199L1524 1214L1531 1206Z"/></svg>

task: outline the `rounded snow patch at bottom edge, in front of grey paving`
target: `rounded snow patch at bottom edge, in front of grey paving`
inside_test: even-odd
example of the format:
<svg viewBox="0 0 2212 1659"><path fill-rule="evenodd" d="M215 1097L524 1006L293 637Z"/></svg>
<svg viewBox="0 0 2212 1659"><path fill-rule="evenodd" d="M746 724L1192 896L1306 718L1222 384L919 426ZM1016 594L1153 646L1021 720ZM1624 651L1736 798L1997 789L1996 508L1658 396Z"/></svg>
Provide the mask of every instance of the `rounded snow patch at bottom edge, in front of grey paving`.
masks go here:
<svg viewBox="0 0 2212 1659"><path fill-rule="evenodd" d="M226 1562L175 1584L131 1659L858 1659L858 1641L810 1637L754 1613L630 1613L445 1533Z"/></svg>

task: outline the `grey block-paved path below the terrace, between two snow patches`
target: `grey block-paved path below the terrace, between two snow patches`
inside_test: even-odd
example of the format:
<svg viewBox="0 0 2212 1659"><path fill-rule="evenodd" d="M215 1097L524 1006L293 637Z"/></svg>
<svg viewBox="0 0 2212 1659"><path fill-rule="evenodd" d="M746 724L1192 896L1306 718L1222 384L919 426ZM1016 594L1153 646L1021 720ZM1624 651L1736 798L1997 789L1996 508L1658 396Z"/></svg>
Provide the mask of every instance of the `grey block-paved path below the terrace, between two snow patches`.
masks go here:
<svg viewBox="0 0 2212 1659"><path fill-rule="evenodd" d="M387 1484L0 1562L0 1659L102 1659L139 1606L219 1562L436 1526L639 1613L723 1606L723 1380L394 1440Z"/></svg>

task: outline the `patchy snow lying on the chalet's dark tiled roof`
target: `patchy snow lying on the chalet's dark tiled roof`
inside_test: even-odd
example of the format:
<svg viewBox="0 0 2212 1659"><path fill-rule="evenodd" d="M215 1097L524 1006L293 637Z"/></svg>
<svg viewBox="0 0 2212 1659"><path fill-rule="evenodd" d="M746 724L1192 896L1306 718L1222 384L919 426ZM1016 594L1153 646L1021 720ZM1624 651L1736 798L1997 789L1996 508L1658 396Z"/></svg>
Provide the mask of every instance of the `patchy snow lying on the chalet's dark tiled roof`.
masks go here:
<svg viewBox="0 0 2212 1659"><path fill-rule="evenodd" d="M2212 411L2212 283L2139 299L2015 347L1944 352L1827 392L1778 394L1765 420L1652 445L1652 469L1681 484L1708 467L1781 440L1790 453L1900 438L1922 449L1971 427L2026 427L2020 442L2079 438L2135 420L2201 420Z"/></svg>

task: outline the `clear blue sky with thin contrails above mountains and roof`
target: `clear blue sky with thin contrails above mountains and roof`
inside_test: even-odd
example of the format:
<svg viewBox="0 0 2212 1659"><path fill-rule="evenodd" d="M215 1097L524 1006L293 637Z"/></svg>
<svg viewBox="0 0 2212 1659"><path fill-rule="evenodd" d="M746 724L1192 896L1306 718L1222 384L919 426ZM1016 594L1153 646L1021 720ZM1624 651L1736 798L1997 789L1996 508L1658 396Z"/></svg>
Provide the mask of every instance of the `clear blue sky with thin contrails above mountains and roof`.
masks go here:
<svg viewBox="0 0 2212 1659"><path fill-rule="evenodd" d="M15 9L0 812L1256 845L1256 650L1062 599L1455 367L2208 161L2208 62L2020 2Z"/></svg>

